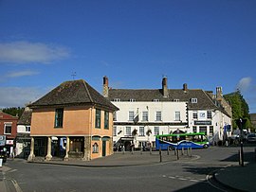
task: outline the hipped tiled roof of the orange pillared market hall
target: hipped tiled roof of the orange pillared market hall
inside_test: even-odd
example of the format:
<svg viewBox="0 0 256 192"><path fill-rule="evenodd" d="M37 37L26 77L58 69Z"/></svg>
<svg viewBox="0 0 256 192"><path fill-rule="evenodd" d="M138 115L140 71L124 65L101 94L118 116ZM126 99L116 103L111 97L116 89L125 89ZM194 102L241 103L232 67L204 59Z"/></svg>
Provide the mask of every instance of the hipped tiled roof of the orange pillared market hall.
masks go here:
<svg viewBox="0 0 256 192"><path fill-rule="evenodd" d="M46 96L41 97L30 108L43 108L50 106L76 106L84 104L95 104L111 111L118 108L109 102L104 96L101 96L85 80L65 81L58 87L50 91Z"/></svg>

